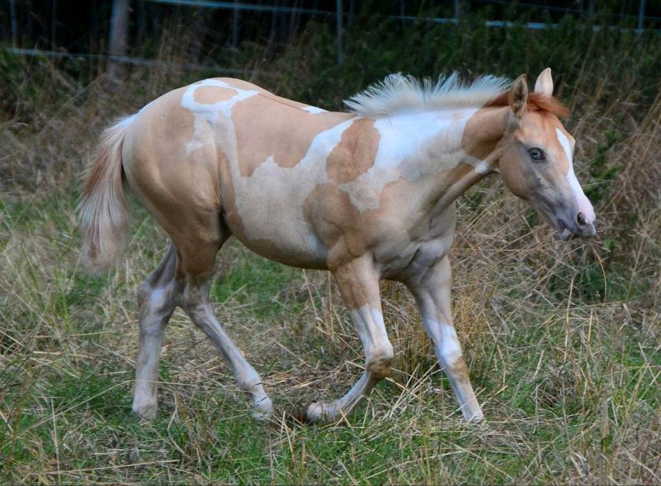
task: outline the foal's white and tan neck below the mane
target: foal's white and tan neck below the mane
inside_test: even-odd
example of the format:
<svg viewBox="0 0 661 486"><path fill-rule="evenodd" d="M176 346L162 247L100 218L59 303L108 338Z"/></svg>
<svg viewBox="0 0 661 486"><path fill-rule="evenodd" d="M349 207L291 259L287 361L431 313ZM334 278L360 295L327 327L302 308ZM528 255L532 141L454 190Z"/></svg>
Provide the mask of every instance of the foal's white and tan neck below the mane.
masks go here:
<svg viewBox="0 0 661 486"><path fill-rule="evenodd" d="M444 211L497 169L508 113L507 107L461 108L380 118L381 164L397 160L400 173L422 181L423 200L434 212Z"/></svg>

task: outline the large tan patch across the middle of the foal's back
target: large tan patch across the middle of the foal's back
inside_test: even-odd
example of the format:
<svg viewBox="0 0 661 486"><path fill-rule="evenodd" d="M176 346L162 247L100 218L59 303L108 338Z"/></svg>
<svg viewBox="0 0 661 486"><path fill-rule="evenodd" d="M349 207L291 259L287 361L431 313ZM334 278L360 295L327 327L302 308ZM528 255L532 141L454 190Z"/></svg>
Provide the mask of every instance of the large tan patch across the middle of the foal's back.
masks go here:
<svg viewBox="0 0 661 486"><path fill-rule="evenodd" d="M355 118L354 114L310 114L272 99L253 96L232 111L240 173L251 174L269 157L280 167L291 168L307 154L317 135Z"/></svg>

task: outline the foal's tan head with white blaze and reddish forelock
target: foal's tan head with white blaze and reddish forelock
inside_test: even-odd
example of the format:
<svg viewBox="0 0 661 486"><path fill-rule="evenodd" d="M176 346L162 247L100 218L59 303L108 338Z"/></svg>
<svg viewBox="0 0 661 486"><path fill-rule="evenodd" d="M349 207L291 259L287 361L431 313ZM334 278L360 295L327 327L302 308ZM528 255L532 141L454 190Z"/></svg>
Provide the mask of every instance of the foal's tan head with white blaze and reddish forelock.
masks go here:
<svg viewBox="0 0 661 486"><path fill-rule="evenodd" d="M536 209L561 239L592 236L594 209L574 174L574 137L560 123L558 115L566 110L552 93L548 68L533 93L528 93L525 75L514 81L499 169L510 191Z"/></svg>

